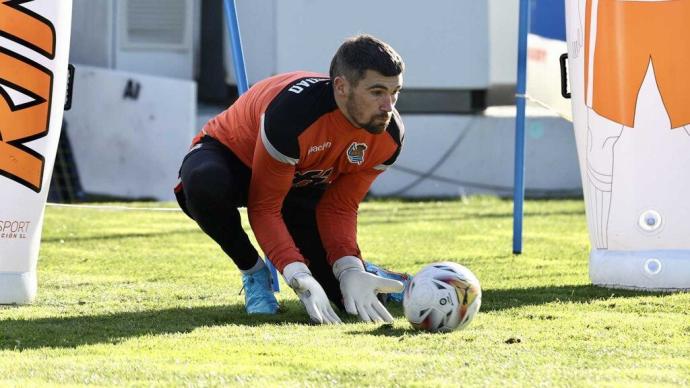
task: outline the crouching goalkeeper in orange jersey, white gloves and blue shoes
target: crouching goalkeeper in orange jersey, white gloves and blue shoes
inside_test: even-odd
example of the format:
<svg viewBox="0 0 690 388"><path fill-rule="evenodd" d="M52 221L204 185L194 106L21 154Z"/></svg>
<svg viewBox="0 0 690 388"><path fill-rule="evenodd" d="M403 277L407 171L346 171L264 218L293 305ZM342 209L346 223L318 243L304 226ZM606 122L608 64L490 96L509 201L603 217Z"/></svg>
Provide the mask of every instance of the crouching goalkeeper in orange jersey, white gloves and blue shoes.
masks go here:
<svg viewBox="0 0 690 388"><path fill-rule="evenodd" d="M364 321L393 321L378 295L400 300L409 277L364 262L356 234L359 203L400 153L403 70L388 44L359 35L340 46L330 77L260 81L194 139L175 193L242 272L248 313L275 314L278 303L242 206L312 321L341 322L330 302Z"/></svg>

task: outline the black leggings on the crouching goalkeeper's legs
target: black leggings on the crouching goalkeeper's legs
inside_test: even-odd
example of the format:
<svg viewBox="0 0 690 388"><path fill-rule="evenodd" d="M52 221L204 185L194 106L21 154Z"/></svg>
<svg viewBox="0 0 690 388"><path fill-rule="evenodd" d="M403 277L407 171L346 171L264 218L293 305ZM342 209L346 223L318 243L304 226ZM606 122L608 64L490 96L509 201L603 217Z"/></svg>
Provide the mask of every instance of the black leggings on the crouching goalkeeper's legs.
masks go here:
<svg viewBox="0 0 690 388"><path fill-rule="evenodd" d="M241 270L256 264L258 253L242 228L239 207L247 205L251 170L227 147L206 136L180 168L182 210L209 235ZM328 298L342 308L340 286L326 260L316 225L321 190L293 189L283 203L285 225Z"/></svg>

